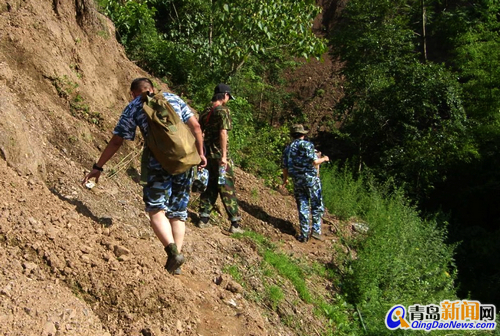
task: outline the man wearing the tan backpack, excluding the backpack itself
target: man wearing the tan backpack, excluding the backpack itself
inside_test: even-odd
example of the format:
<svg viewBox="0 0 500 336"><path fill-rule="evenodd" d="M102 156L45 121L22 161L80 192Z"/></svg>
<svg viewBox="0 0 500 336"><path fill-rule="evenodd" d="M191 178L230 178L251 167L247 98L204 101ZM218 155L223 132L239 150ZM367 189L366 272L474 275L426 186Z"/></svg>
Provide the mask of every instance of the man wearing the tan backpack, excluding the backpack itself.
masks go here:
<svg viewBox="0 0 500 336"><path fill-rule="evenodd" d="M113 131L113 137L102 152L99 161L92 167L92 171L85 176L84 184L91 178L95 178L98 182L104 164L118 151L124 139L134 140L137 127L144 138L147 138L148 119L143 110L141 94L146 91L154 93L153 83L148 78L137 78L132 82L130 91L134 99L123 110ZM196 149L201 158L200 166L204 167L206 158L203 155L203 137L198 120L187 104L177 95L165 92L163 96L193 133L196 139ZM147 181L143 186L146 212L149 214L153 231L167 252L165 268L171 274L180 274L180 266L184 263L184 256L180 251L184 242L192 170L188 169L185 173L170 175L153 155L144 159L147 160L147 177L143 178Z"/></svg>

